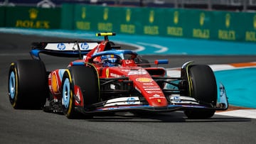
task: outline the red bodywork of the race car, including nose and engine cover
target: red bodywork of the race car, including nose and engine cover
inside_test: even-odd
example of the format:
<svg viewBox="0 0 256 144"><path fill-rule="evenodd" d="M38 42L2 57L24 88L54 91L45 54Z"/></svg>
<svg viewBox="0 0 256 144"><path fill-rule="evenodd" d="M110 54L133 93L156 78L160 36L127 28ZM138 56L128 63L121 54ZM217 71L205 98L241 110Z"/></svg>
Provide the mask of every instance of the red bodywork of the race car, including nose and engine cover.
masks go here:
<svg viewBox="0 0 256 144"><path fill-rule="evenodd" d="M93 50L87 53L87 55L83 58L83 60L75 60L70 62L68 67L72 66L74 62L90 62L97 69L97 73L99 74L99 78L111 78L111 77L129 77L129 80L133 82L134 88L144 96L146 101L148 101L149 106L168 106L168 102L164 93L159 87L154 79L152 79L152 75L149 74L150 71L159 71L156 77L163 77L166 75L166 71L161 67L139 67L139 65L134 62L134 58L137 55L132 57L132 60L121 60L120 65L114 67L105 67L102 65L100 57L95 57L93 62L91 57L96 52L102 52L106 49L106 45L109 43L108 40L104 40L99 45L97 45ZM54 70L50 72L48 77L48 84L50 88L50 92L53 94L55 101L61 100L60 87L61 80L63 77L63 72L65 69ZM79 89L78 89L79 91ZM75 91L75 95L77 91ZM80 99L82 99L81 94ZM129 94L127 94L129 96ZM76 104L78 105L78 104Z"/></svg>

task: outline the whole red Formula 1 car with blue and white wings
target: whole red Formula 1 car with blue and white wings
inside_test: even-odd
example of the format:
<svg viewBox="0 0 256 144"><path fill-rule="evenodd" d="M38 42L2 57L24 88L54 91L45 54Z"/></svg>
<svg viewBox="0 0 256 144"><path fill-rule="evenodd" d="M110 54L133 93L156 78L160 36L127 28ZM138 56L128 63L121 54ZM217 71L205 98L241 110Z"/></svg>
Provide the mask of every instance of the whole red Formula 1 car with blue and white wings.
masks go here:
<svg viewBox="0 0 256 144"><path fill-rule="evenodd" d="M98 43L34 43L33 60L11 63L11 105L63 112L68 118L119 111L184 111L188 118L210 118L215 111L228 109L225 89L220 84L218 99L208 65L186 62L181 77L168 77L158 67L168 60L151 64L132 50L121 50L108 40L110 35L115 33L97 33L105 37ZM47 72L39 53L79 59Z"/></svg>

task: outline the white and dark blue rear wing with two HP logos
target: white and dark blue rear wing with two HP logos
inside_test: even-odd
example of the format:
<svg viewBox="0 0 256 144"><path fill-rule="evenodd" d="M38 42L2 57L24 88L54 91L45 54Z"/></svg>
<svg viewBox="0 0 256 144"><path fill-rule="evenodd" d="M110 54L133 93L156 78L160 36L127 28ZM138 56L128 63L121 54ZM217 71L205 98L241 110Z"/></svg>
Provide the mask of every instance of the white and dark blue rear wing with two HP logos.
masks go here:
<svg viewBox="0 0 256 144"><path fill-rule="evenodd" d="M39 53L58 57L79 57L93 50L100 42L32 43L31 57L40 60Z"/></svg>

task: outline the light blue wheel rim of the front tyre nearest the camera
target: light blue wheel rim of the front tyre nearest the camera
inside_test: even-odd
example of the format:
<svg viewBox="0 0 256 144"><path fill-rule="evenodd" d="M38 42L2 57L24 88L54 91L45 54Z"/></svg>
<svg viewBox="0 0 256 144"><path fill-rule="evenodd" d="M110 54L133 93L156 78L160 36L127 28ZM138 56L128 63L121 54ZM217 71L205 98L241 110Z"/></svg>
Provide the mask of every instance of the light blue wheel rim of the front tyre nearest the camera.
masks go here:
<svg viewBox="0 0 256 144"><path fill-rule="evenodd" d="M65 109L68 109L69 103L70 103L70 82L69 79L66 78L63 84L63 106Z"/></svg>

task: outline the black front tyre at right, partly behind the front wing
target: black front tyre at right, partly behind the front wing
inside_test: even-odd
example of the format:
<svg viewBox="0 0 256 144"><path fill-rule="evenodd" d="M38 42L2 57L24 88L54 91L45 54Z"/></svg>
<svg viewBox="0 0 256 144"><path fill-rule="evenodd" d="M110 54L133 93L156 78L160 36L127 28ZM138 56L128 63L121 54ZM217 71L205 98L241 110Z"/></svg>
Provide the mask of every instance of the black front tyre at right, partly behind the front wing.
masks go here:
<svg viewBox="0 0 256 144"><path fill-rule="evenodd" d="M215 108L217 102L217 85L213 70L208 65L191 65L188 70L188 93L200 104ZM215 110L186 110L188 118L210 118Z"/></svg>

